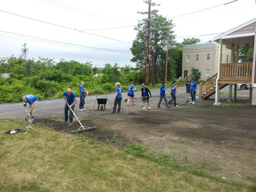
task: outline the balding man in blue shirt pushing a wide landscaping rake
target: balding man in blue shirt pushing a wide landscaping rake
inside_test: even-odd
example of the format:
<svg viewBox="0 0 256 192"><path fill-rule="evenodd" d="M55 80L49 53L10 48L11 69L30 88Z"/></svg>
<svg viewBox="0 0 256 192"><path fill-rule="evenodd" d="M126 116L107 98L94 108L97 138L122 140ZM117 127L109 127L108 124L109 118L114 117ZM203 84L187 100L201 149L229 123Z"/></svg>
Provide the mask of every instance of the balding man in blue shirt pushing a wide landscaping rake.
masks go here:
<svg viewBox="0 0 256 192"><path fill-rule="evenodd" d="M71 108L74 111L75 104L77 103L77 96L72 92L71 88L68 88L67 91L62 93L62 97L65 100L64 114L65 119L63 123L68 121L68 110ZM73 112L70 110L69 122L68 125L73 123Z"/></svg>

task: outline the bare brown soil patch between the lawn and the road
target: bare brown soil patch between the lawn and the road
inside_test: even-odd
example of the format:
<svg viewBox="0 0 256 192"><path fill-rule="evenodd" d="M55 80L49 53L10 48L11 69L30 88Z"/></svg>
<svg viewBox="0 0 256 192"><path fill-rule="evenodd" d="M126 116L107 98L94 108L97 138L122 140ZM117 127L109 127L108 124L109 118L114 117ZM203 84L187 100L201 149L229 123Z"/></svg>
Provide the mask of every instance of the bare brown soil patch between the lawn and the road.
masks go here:
<svg viewBox="0 0 256 192"><path fill-rule="evenodd" d="M179 107L166 109L162 102L158 109L158 101L159 97L152 97L152 109L141 110L140 99L130 107L123 99L120 114L112 114L110 104L105 110L87 105L87 110L76 110L75 114L82 125L97 129L79 134L115 147L122 147L124 142L139 144L151 152L171 154L176 163L191 169L253 183L248 176L256 176L256 106L225 100L220 106L213 105L213 100L185 105L186 98L178 97ZM35 123L70 132L80 127L74 120L72 125L63 124L59 117L39 118ZM110 142L112 139L115 141Z"/></svg>

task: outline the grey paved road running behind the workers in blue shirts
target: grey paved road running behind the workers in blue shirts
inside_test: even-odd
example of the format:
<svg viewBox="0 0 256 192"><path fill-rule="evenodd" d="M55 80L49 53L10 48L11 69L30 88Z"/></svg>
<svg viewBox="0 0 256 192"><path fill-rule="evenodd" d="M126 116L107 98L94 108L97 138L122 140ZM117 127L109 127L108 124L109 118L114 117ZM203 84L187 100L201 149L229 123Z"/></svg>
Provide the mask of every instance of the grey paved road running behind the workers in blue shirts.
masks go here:
<svg viewBox="0 0 256 192"><path fill-rule="evenodd" d="M168 97L170 98L168 89ZM221 92L228 93L228 86L223 88ZM159 97L159 88L151 90L152 97ZM123 93L123 98L126 98L127 93ZM238 90L237 92L238 99L248 100L249 99L249 90ZM97 95L89 95L85 101L86 104L93 106L95 104ZM110 103L114 103L114 93L106 95ZM98 95L97 98L106 98L105 95ZM134 97L141 97L141 92L135 92ZM177 97L187 98L188 94L186 93L186 87L178 87ZM210 99L215 99L215 95L211 96ZM227 95L220 95L220 99L228 99ZM78 99L79 102L79 99ZM26 117L26 110L23 107L23 102L17 104L0 104L0 118L11 118L11 119L21 119ZM36 114L37 117L56 117L63 116L64 109L64 100L63 99L53 99L53 100L40 100L37 104L37 109L40 110L40 116ZM97 102L95 104L95 109L97 109ZM75 105L75 111L78 110L78 104Z"/></svg>

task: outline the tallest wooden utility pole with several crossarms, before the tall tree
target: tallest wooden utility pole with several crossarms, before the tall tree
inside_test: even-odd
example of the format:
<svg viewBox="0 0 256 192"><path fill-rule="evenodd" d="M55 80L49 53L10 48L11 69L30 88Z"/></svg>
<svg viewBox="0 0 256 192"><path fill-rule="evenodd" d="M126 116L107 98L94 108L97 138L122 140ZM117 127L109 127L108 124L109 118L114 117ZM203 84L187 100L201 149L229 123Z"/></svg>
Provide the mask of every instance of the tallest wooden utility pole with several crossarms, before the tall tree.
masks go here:
<svg viewBox="0 0 256 192"><path fill-rule="evenodd" d="M152 10L151 11L151 6L159 6L160 4L156 4L156 3L152 3L151 0L147 0L147 1L143 1L144 3L148 4L149 5L149 9L148 11L146 12L138 12L137 13L141 13L141 14L147 14L147 19L143 19L144 21L147 21L147 55L146 55L146 58L147 58L147 63L146 63L146 85L149 85L149 43L150 43L150 30L152 30L150 28L150 23L152 22L151 19L150 19L150 16L151 16L151 13L156 13L158 12L156 9Z"/></svg>

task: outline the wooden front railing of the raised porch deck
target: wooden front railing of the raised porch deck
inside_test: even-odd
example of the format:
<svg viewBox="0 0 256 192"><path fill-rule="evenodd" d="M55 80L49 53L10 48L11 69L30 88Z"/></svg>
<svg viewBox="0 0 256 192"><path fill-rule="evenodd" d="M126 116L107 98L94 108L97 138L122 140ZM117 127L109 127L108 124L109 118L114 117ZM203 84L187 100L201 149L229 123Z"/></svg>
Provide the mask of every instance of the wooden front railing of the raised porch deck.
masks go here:
<svg viewBox="0 0 256 192"><path fill-rule="evenodd" d="M252 63L221 63L221 80L250 80L252 79Z"/></svg>

